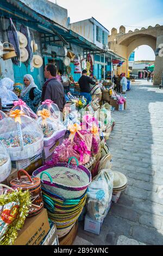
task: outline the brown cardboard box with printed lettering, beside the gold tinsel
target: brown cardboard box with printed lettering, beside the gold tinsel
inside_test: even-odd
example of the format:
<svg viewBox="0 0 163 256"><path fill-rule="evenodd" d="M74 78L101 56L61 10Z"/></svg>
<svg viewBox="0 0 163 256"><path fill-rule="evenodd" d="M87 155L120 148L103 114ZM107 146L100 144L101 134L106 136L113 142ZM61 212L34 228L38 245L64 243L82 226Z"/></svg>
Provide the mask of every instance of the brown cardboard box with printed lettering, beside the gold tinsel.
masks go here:
<svg viewBox="0 0 163 256"><path fill-rule="evenodd" d="M49 229L47 210L43 209L40 214L26 218L14 245L39 245Z"/></svg>

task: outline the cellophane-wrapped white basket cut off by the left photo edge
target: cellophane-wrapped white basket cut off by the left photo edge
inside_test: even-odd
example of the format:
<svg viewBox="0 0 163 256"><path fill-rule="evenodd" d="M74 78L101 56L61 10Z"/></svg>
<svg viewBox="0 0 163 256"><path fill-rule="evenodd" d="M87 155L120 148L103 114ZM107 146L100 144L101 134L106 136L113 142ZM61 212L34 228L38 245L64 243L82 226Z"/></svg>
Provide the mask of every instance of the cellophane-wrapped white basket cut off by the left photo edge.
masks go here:
<svg viewBox="0 0 163 256"><path fill-rule="evenodd" d="M1 125L1 122L0 122ZM11 172L10 156L5 149L3 143L0 141L0 182L8 178Z"/></svg>

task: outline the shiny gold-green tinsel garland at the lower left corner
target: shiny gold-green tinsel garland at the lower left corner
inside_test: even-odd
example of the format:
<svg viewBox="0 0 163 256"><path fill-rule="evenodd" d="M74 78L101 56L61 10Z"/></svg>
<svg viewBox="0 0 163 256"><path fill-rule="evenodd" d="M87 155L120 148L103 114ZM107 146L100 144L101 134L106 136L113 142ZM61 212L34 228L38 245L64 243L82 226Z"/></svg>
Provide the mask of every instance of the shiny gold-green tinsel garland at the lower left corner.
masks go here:
<svg viewBox="0 0 163 256"><path fill-rule="evenodd" d="M11 202L17 202L20 208L19 214L14 222L8 225L7 231L1 237L0 245L13 245L17 238L17 231L20 230L26 217L28 216L29 206L31 205L30 193L28 190L15 190L0 196L0 205L5 205Z"/></svg>

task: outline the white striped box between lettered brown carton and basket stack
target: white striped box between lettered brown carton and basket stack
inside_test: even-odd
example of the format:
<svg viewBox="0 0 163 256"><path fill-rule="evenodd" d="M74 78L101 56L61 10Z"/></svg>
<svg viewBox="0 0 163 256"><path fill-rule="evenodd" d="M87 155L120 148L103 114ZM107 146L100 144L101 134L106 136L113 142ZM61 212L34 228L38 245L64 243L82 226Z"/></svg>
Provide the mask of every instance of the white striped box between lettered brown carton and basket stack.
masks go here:
<svg viewBox="0 0 163 256"><path fill-rule="evenodd" d="M50 227L51 229L41 241L40 245L59 245L56 225L51 223Z"/></svg>

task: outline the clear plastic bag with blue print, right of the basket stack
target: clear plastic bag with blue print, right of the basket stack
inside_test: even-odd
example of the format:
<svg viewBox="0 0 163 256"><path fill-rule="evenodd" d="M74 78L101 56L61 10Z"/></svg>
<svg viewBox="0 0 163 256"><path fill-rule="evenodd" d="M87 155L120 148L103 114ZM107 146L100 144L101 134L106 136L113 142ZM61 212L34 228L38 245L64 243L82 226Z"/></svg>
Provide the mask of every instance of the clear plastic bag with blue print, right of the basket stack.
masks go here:
<svg viewBox="0 0 163 256"><path fill-rule="evenodd" d="M111 201L114 175L108 169L103 169L95 176L87 190L87 214L93 220L102 220Z"/></svg>

